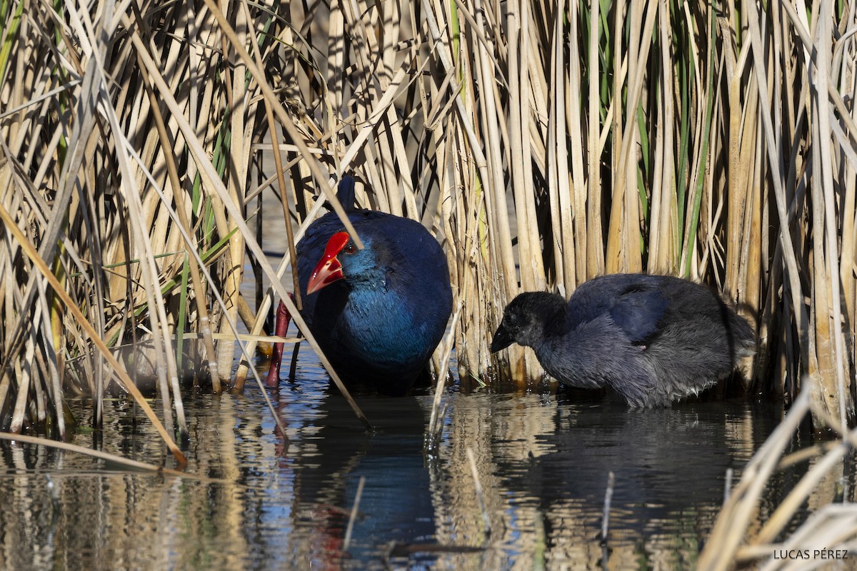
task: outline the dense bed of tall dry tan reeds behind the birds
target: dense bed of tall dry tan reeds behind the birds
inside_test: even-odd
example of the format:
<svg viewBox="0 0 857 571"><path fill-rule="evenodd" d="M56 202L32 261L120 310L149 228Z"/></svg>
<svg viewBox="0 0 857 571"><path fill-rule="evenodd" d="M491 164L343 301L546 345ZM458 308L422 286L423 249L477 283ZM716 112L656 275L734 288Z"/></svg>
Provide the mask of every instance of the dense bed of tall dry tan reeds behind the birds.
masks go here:
<svg viewBox="0 0 857 571"><path fill-rule="evenodd" d="M463 385L541 379L488 352L515 294L647 271L755 324L746 390L805 386L818 430L853 416L854 3L5 0L0 22L5 430L66 437L69 394L98 428L112 388L147 409L147 377L181 461L181 384L255 375L273 301L300 306L294 243L348 171L446 248Z"/></svg>

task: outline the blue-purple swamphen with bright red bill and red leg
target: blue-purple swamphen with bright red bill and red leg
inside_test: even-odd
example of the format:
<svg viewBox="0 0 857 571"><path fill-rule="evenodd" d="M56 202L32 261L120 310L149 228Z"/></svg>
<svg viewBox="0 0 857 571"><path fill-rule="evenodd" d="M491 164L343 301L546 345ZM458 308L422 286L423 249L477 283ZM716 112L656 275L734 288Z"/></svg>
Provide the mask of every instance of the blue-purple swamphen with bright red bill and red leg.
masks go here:
<svg viewBox="0 0 857 571"><path fill-rule="evenodd" d="M363 250L328 212L297 244L301 315L346 382L402 394L425 371L452 312L452 289L440 244L407 218L355 207L354 178L337 198ZM288 312L280 304L278 335ZM274 348L268 386L279 381L282 344Z"/></svg>

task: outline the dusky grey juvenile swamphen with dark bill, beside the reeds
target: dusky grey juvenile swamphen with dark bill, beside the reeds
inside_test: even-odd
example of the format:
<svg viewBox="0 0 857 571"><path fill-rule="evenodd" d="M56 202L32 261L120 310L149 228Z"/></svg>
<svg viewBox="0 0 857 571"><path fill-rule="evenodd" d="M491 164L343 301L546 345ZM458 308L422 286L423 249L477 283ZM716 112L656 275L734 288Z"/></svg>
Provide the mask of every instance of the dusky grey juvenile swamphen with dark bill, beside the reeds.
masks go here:
<svg viewBox="0 0 857 571"><path fill-rule="evenodd" d="M632 407L696 395L754 351L754 336L716 294L678 277L615 274L581 285L571 299L544 292L506 306L491 342L536 350L545 371L579 388L608 386Z"/></svg>

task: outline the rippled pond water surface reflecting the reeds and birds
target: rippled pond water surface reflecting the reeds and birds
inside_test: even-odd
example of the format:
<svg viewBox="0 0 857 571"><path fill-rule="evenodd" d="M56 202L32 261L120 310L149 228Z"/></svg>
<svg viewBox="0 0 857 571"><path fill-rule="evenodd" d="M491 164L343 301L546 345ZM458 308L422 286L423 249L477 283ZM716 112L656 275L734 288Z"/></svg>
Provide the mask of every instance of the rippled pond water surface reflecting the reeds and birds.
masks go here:
<svg viewBox="0 0 857 571"><path fill-rule="evenodd" d="M269 393L286 439L255 386L243 396L185 397L188 472L217 481L129 472L4 443L0 568L692 568L722 503L727 469L739 478L782 415L744 401L629 411L579 393L450 387L440 446L425 455L431 396L361 397L375 425L368 432L302 353L297 380ZM88 404L73 404L87 423ZM105 418L105 451L171 465L132 403L109 401ZM75 437L83 446L92 441L92 434ZM808 443L796 439L794 447ZM799 476L777 477L763 516ZM835 490L836 483L822 485L812 501L829 502Z"/></svg>

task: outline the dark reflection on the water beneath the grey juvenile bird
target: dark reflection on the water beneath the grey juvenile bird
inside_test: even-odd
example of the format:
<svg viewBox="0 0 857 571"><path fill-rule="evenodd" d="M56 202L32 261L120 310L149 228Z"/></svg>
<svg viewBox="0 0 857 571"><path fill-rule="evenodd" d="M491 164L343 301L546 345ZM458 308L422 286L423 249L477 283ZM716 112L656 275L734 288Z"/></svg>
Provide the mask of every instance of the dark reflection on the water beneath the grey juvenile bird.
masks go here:
<svg viewBox="0 0 857 571"><path fill-rule="evenodd" d="M728 406L706 404L623 410L608 404L584 410L569 421L560 419L554 434L540 438L555 451L531 459L518 484L545 503L565 497L600 505L613 472L614 506L645 509L650 519L718 503L726 469L740 467L724 409Z"/></svg>

